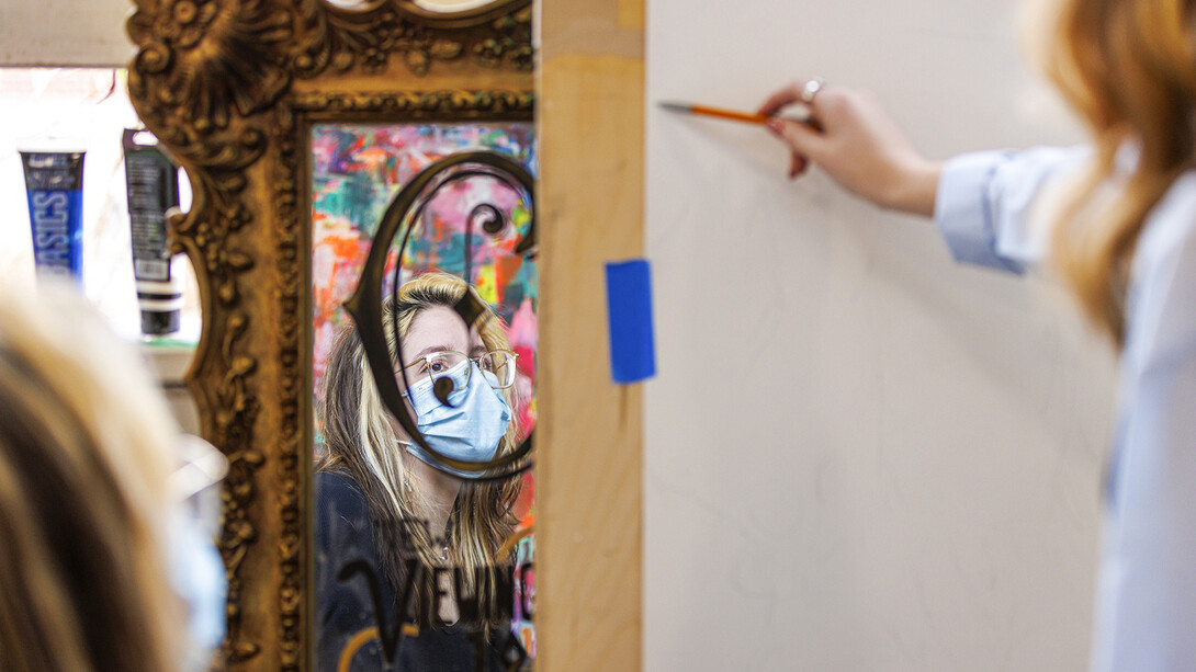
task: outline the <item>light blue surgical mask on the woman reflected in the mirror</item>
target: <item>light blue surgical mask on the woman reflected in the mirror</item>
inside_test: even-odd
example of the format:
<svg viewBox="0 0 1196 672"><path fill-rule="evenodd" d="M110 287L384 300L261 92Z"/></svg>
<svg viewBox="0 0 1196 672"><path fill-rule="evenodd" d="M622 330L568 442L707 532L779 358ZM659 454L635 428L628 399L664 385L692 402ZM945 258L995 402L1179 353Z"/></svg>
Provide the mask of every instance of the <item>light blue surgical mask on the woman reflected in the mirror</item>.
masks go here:
<svg viewBox="0 0 1196 672"><path fill-rule="evenodd" d="M471 367L471 368L466 368ZM489 462L499 450L499 441L511 424L511 407L502 391L490 386L498 380L482 371L472 360L465 360L445 375L453 380L454 390L448 403L437 398L431 377L411 385L408 398L416 415L416 427L423 440L440 454L463 462ZM465 384L465 377L469 384ZM417 444L403 442L408 452L423 462L465 478L478 471L465 471L441 464Z"/></svg>

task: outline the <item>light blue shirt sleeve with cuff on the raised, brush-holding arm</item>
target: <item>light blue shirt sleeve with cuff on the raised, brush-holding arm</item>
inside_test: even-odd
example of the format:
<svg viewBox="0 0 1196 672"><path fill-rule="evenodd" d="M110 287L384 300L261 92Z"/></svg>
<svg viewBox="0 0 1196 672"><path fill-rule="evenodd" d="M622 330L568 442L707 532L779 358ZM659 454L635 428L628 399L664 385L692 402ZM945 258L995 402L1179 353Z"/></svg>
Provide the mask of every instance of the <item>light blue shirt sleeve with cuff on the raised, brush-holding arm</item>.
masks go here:
<svg viewBox="0 0 1196 672"><path fill-rule="evenodd" d="M977 152L946 163L934 221L957 262L1020 274L1045 255L1030 213L1043 187L1092 155L1087 147Z"/></svg>

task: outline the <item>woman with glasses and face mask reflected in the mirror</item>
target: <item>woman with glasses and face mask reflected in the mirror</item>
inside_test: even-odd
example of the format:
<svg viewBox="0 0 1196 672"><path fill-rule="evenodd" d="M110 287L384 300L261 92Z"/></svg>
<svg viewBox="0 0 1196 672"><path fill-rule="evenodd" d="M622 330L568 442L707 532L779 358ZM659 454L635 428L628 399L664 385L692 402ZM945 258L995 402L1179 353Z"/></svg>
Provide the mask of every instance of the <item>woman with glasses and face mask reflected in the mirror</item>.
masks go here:
<svg viewBox="0 0 1196 672"><path fill-rule="evenodd" d="M484 306L468 326L453 310L466 297ZM515 450L514 355L472 287L421 275L386 301L383 324L390 374L429 447L475 463ZM319 668L344 655L354 670L478 668L477 633L493 649L508 625L508 558L496 556L517 523L519 478L480 479L488 472L453 469L414 441L383 404L352 325L334 341L317 419ZM346 654L374 627L376 640ZM496 652L489 658L498 665Z"/></svg>

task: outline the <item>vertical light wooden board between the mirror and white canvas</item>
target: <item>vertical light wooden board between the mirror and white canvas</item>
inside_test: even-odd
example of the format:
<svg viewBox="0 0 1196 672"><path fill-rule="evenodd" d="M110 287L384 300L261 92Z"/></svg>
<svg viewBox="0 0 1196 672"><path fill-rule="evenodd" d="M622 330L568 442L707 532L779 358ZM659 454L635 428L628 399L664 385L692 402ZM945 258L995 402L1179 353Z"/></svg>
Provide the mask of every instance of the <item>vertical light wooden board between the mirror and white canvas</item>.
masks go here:
<svg viewBox="0 0 1196 672"><path fill-rule="evenodd" d="M543 4L536 552L548 672L641 665L642 393L611 381L603 274L643 252L642 31L620 28L629 5L642 13L641 0ZM567 38L582 26L587 39Z"/></svg>

